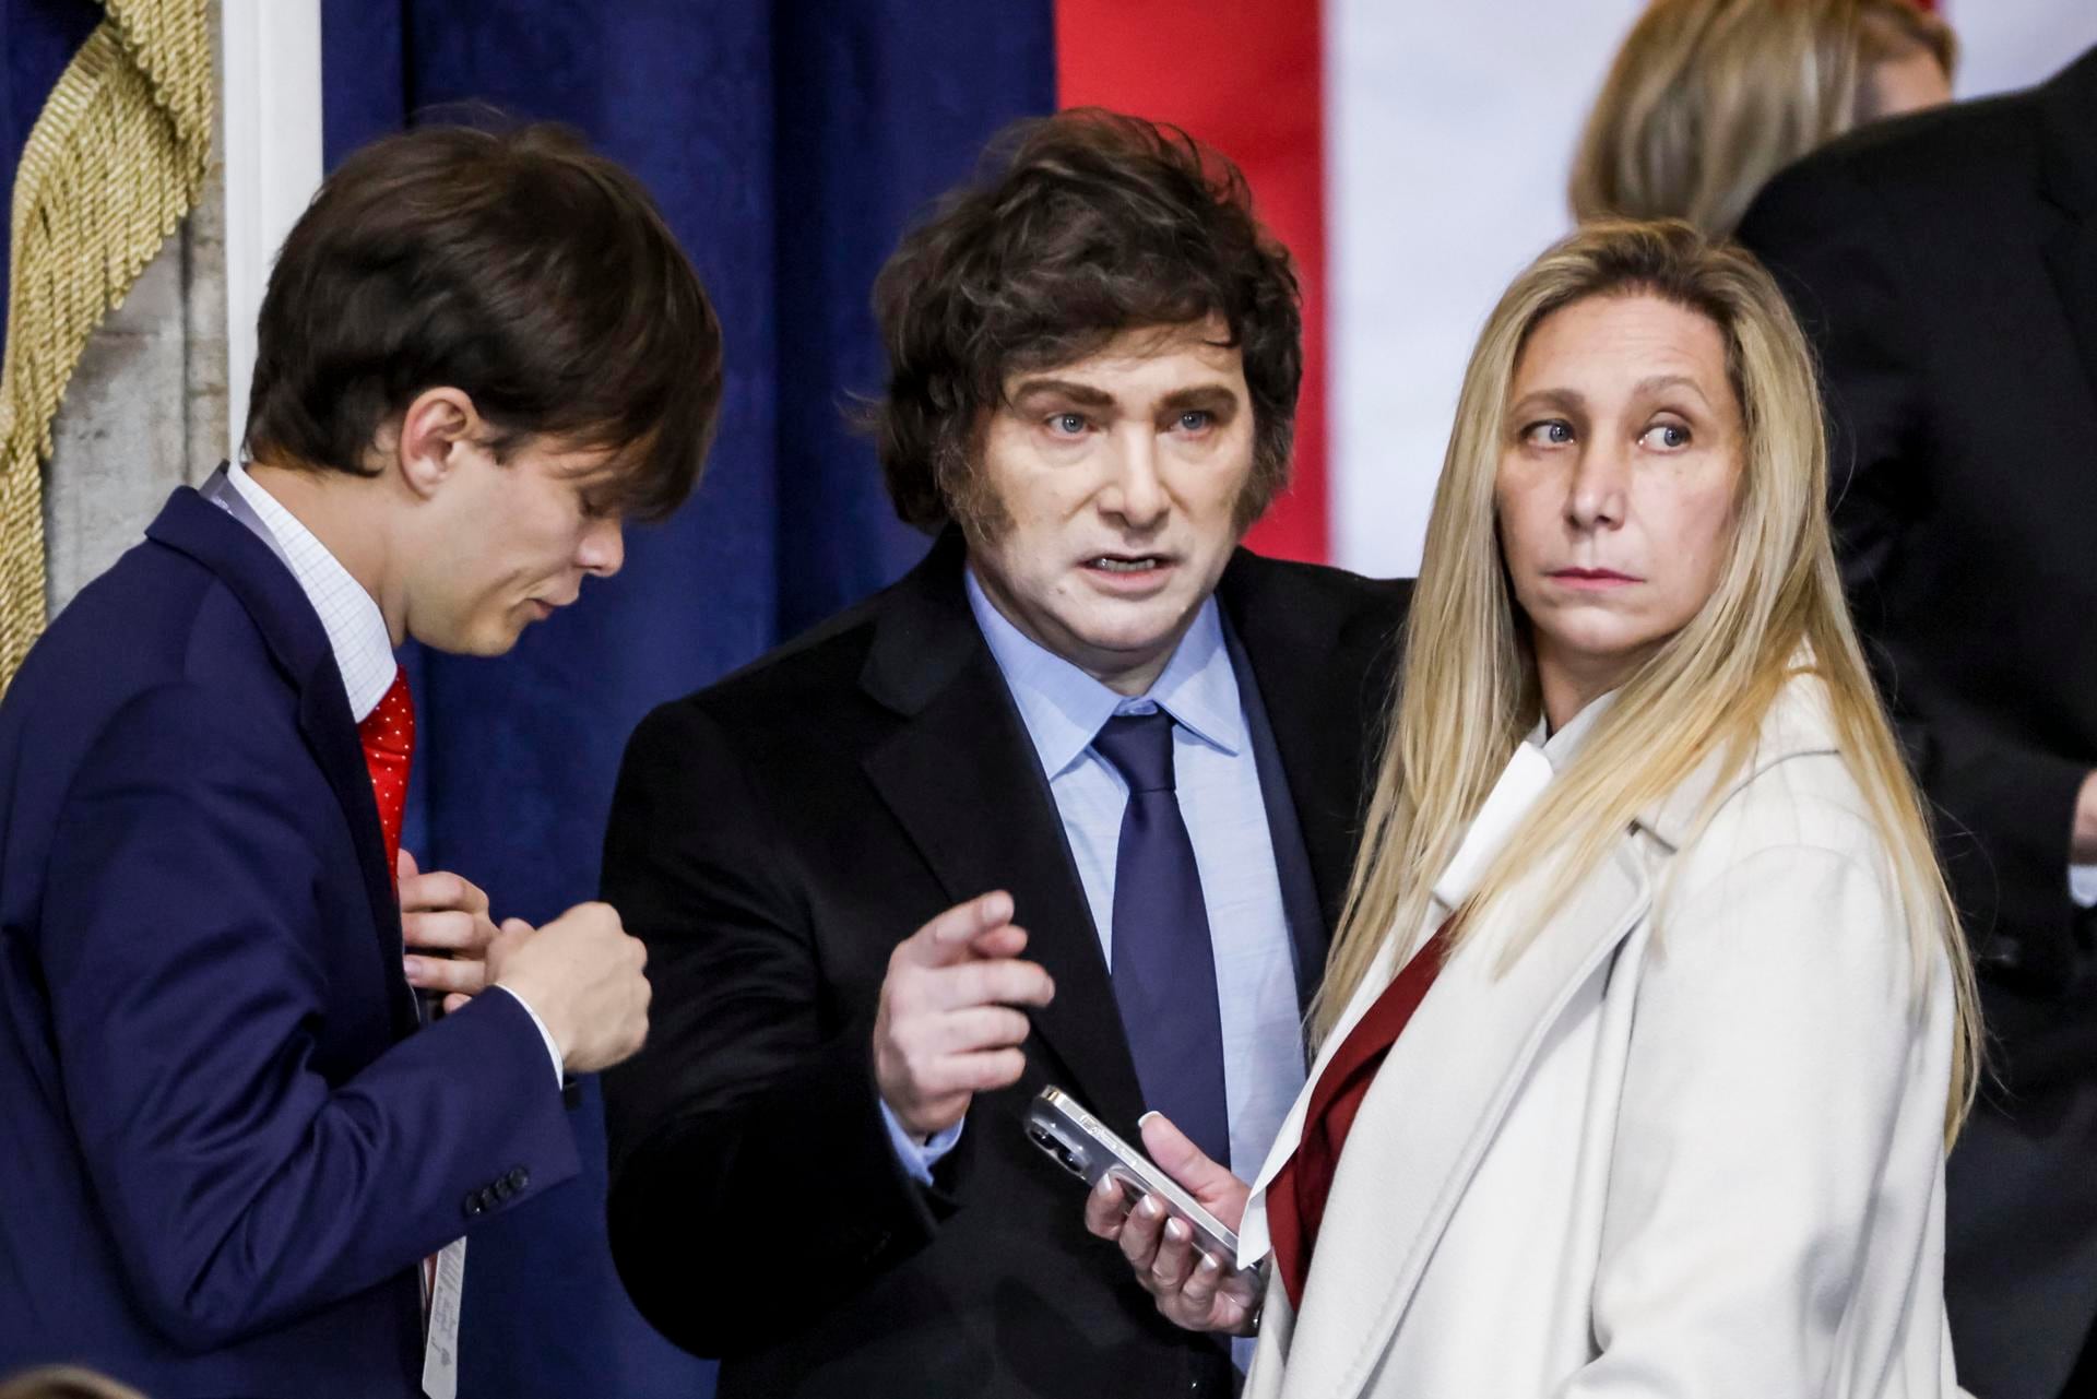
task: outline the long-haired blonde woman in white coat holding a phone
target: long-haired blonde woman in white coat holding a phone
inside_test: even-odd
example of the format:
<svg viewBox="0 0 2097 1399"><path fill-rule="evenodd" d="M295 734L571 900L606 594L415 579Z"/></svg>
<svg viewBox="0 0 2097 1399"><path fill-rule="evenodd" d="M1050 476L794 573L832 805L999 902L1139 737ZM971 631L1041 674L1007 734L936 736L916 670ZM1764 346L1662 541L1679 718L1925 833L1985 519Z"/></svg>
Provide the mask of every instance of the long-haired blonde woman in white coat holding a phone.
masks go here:
<svg viewBox="0 0 2097 1399"><path fill-rule="evenodd" d="M1954 1393L1971 975L1843 608L1806 344L1688 224L1539 258L1466 375L1403 692L1248 1189L1095 1193L1260 1399Z"/></svg>

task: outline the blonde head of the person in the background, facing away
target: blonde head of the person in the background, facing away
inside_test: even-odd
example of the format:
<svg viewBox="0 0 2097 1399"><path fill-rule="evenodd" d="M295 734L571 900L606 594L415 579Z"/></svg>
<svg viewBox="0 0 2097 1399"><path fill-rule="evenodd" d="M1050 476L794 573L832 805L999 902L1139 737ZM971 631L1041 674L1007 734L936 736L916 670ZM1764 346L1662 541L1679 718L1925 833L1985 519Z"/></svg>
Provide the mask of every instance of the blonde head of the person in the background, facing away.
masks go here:
<svg viewBox="0 0 2097 1399"><path fill-rule="evenodd" d="M1957 42L1910 0L1655 0L1573 162L1573 216L1730 235L1772 174L1854 126L1948 103Z"/></svg>

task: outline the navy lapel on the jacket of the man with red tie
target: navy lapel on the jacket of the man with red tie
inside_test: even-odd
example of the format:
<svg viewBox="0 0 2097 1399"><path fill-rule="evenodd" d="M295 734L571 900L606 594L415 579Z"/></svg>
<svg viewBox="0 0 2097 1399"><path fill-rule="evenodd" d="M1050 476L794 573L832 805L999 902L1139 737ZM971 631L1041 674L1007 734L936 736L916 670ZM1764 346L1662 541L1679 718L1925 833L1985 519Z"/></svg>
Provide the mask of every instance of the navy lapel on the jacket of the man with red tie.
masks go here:
<svg viewBox="0 0 2097 1399"><path fill-rule="evenodd" d="M356 852L394 1034L407 1034L415 1028L415 996L401 975L401 906L386 868L386 841L371 799L365 751L321 619L275 550L197 491L185 487L168 497L147 537L210 568L239 598L291 682L298 694L298 730L342 805Z"/></svg>

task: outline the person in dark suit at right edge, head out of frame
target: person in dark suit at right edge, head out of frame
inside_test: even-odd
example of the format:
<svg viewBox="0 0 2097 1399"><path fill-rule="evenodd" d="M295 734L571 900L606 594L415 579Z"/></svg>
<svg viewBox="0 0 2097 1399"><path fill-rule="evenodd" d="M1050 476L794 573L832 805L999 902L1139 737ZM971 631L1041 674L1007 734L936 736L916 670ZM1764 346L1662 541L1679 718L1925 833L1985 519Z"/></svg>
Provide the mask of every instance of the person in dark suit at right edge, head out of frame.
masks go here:
<svg viewBox="0 0 2097 1399"><path fill-rule="evenodd" d="M1826 367L1858 623L1980 971L1994 1072L1950 1162L1982 1399L2097 1384L2097 50L1860 130L1741 239ZM2076 868L2072 868L2076 866Z"/></svg>

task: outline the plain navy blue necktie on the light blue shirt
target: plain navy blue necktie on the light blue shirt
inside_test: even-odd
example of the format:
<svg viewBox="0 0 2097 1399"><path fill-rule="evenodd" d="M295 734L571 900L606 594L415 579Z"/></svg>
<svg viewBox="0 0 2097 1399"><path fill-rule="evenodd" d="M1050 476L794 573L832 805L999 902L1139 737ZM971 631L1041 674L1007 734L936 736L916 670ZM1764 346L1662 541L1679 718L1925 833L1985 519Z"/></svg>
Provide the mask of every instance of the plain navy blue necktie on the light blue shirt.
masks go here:
<svg viewBox="0 0 2097 1399"><path fill-rule="evenodd" d="M1172 715L1114 715L1093 749L1128 782L1114 860L1114 1000L1143 1103L1229 1166L1216 954L1193 841L1172 791Z"/></svg>

